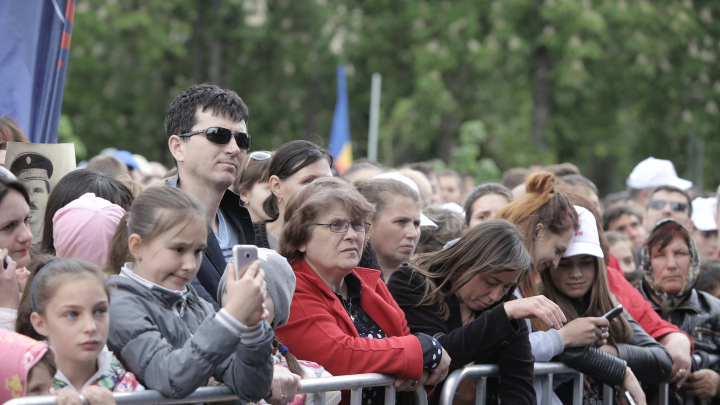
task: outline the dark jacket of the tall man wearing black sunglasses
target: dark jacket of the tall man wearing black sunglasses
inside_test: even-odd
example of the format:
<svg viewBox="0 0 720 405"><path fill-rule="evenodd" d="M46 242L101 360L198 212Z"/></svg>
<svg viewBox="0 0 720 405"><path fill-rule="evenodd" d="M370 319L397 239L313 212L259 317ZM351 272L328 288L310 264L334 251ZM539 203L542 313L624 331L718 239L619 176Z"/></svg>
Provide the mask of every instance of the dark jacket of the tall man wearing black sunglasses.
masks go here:
<svg viewBox="0 0 720 405"><path fill-rule="evenodd" d="M165 180L165 185L177 187L178 176L176 174L172 179ZM237 232L238 244L254 245L255 231L250 219L250 212L240 205L240 196L230 190L225 190L225 194L220 200L220 208L223 210L228 226ZM200 271L193 279L192 286L195 287L202 299L213 305L215 311L220 310L220 305L216 302L217 286L225 273L226 266L227 263L225 262L225 256L222 254L222 249L220 249L220 244L215 237L215 233L210 230Z"/></svg>

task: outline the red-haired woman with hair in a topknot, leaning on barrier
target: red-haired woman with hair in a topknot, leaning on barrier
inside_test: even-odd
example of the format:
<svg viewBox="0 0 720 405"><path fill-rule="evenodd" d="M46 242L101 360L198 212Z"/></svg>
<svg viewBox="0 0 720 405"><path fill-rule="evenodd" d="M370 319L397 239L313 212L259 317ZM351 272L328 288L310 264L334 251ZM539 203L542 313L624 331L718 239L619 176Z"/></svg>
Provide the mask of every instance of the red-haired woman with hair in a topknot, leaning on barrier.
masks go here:
<svg viewBox="0 0 720 405"><path fill-rule="evenodd" d="M556 267L578 230L578 216L567 195L555 192L555 177L547 172L531 175L525 182L527 193L497 212L523 231L535 267L524 274L515 290L517 298L538 295L538 273ZM600 317L576 318L559 330L549 329L539 319L527 321L530 344L535 361L559 361L609 386L624 386L631 392L640 390L639 383L624 360L597 347L608 338L608 321ZM559 375L555 383L563 380ZM534 382L538 403L543 397L542 381ZM640 390L641 393L641 390ZM553 404L560 399L551 393Z"/></svg>

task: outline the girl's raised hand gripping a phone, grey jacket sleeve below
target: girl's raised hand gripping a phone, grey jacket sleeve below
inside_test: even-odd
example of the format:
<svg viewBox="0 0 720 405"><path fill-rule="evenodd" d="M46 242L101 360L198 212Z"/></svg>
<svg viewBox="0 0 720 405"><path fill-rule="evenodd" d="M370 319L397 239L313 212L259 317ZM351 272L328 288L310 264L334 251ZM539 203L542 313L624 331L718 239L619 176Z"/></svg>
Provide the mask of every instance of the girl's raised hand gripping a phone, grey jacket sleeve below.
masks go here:
<svg viewBox="0 0 720 405"><path fill-rule="evenodd" d="M254 326L267 316L263 307L267 286L265 285L265 272L260 269L260 261L250 263L245 274L235 279L235 266L228 264L227 268L227 304L223 308L235 319L246 326Z"/></svg>

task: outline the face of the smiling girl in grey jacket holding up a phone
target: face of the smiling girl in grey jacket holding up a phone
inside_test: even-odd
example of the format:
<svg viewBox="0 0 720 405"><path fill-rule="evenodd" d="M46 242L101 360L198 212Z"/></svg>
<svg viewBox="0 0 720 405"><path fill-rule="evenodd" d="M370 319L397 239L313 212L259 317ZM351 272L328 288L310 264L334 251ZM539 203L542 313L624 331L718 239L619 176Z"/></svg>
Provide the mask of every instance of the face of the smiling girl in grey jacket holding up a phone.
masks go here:
<svg viewBox="0 0 720 405"><path fill-rule="evenodd" d="M200 270L207 233L207 225L201 218L180 222L140 245L134 252L133 271L161 287L181 291ZM137 235L130 238L133 236Z"/></svg>

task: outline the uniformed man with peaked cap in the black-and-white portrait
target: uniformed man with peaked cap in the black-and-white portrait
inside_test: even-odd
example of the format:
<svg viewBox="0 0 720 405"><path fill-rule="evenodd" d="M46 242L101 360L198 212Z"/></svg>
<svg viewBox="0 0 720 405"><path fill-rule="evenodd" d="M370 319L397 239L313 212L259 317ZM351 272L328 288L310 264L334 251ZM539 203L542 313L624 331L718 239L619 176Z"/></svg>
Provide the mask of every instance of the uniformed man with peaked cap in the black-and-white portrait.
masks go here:
<svg viewBox="0 0 720 405"><path fill-rule="evenodd" d="M46 156L26 152L18 155L10 165L10 171L25 184L30 195L30 230L33 239L42 237L45 207L50 195L50 178L53 164Z"/></svg>

